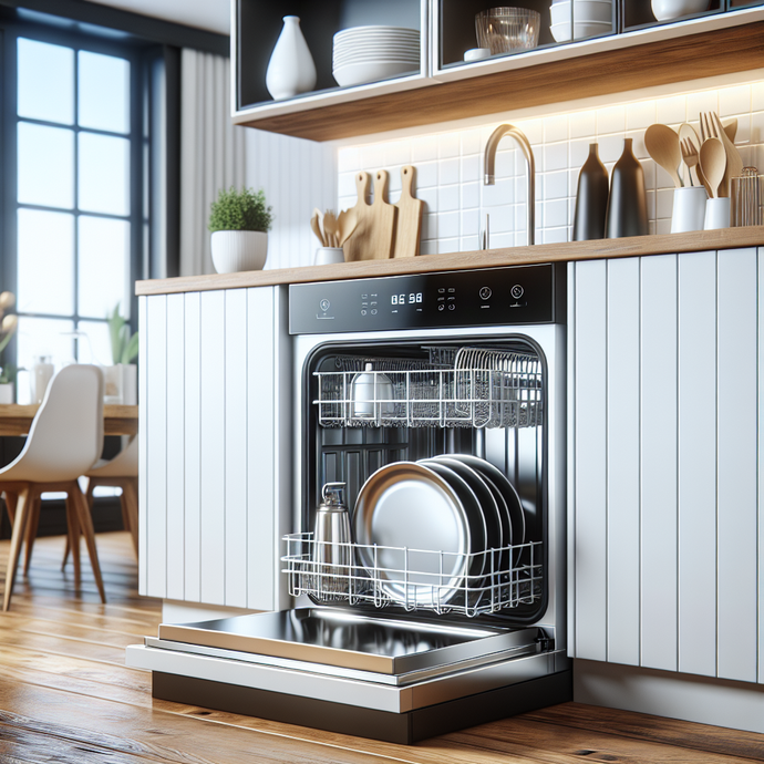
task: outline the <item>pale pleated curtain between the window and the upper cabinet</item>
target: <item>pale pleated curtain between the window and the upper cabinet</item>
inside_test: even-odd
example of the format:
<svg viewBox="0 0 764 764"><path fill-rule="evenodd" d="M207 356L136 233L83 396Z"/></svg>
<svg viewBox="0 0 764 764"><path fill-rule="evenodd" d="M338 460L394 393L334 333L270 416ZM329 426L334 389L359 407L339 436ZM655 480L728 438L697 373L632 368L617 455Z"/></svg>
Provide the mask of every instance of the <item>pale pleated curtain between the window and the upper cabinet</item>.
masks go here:
<svg viewBox="0 0 764 764"><path fill-rule="evenodd" d="M209 205L245 184L245 128L230 122L230 62L183 49L180 55L180 276L214 273Z"/></svg>

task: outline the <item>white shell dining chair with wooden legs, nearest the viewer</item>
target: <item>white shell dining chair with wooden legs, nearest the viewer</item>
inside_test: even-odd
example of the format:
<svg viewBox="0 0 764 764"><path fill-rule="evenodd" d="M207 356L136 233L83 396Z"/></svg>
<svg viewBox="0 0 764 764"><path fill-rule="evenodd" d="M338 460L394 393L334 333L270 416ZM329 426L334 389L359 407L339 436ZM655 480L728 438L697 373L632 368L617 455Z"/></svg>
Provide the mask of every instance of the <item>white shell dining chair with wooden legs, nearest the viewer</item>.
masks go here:
<svg viewBox="0 0 764 764"><path fill-rule="evenodd" d="M32 421L19 456L0 469L0 492L6 494L13 526L8 555L2 609L8 610L30 515L44 492L66 493L66 526L72 544L75 586L80 587L80 534L85 537L101 601L106 601L95 549L93 523L78 477L86 473L103 451L103 375L97 366L64 366L51 380ZM30 531L37 533L35 523ZM33 541L33 538L32 538ZM28 550L31 551L28 536Z"/></svg>

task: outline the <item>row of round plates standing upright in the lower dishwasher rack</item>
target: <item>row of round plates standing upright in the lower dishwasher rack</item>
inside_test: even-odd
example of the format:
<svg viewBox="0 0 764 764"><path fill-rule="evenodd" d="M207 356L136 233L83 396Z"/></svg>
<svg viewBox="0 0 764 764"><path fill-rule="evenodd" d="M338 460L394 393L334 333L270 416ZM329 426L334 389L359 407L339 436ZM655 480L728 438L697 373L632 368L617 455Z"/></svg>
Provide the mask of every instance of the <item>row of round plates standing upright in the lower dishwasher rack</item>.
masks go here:
<svg viewBox="0 0 764 764"><path fill-rule="evenodd" d="M353 536L381 592L407 608L438 608L479 600L485 581L518 564L522 550L512 547L524 543L525 515L489 462L435 456L371 475L355 502Z"/></svg>

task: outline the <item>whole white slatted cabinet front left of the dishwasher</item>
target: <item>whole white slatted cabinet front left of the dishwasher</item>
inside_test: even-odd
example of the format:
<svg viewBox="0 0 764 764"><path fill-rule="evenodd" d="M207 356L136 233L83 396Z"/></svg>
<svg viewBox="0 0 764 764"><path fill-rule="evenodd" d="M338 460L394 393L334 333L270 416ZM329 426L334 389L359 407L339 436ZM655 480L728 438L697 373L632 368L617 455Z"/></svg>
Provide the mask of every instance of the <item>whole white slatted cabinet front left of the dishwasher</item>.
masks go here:
<svg viewBox="0 0 764 764"><path fill-rule="evenodd" d="M278 609L291 496L286 287L138 302L140 591Z"/></svg>

